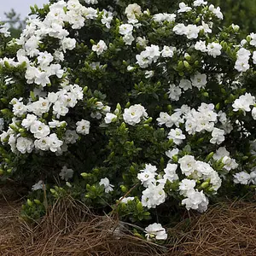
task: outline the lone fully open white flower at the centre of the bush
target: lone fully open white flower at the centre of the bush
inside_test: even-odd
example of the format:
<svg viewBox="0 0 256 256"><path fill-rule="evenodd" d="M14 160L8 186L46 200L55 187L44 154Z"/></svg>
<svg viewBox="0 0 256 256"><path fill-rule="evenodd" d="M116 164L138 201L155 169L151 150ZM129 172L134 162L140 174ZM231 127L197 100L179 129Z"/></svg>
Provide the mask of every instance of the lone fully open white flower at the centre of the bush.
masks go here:
<svg viewBox="0 0 256 256"><path fill-rule="evenodd" d="M123 114L123 118L126 124L128 125L136 125L141 119L147 118L148 113L146 109L142 105L132 105L130 108L125 108L125 112Z"/></svg>

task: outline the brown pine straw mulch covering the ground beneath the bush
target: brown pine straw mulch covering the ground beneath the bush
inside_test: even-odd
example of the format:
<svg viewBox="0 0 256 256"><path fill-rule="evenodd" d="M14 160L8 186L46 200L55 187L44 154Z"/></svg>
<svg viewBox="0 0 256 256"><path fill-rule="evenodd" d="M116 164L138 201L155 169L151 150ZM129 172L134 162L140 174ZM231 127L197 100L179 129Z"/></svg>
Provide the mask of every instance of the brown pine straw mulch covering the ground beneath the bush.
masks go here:
<svg viewBox="0 0 256 256"><path fill-rule="evenodd" d="M0 255L256 255L256 203L225 202L204 214L190 212L168 229L168 246L132 236L127 224L95 216L73 200L56 203L34 227L18 218L19 210L19 201L1 203Z"/></svg>

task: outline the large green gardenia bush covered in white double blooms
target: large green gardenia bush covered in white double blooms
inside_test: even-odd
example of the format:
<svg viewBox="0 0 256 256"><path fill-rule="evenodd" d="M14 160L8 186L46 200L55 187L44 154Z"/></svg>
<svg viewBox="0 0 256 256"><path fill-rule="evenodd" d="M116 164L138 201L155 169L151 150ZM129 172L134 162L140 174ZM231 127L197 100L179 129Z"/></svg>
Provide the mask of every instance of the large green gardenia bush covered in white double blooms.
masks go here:
<svg viewBox="0 0 256 256"><path fill-rule="evenodd" d="M255 33L203 0L32 13L19 39L1 28L0 171L34 184L23 216L72 195L166 240L178 208L253 195Z"/></svg>

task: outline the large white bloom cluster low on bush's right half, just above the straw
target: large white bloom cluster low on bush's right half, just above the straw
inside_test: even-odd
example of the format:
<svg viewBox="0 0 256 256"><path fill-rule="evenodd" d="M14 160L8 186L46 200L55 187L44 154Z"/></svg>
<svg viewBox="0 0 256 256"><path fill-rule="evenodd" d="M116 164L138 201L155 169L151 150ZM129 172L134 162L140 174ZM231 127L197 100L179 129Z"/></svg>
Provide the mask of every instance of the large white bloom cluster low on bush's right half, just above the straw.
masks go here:
<svg viewBox="0 0 256 256"><path fill-rule="evenodd" d="M169 157L175 154L177 154L177 149L167 152ZM216 154L216 157L218 156ZM225 159L224 161L226 162L225 167L229 170L236 168L235 160L230 159L230 162L228 162ZM142 196L143 207L155 208L166 201L166 182L173 183L179 180L177 175L177 168L179 167L181 173L186 176L178 187L179 194L183 196L182 204L188 210L194 209L199 212L207 210L208 199L204 195L203 189L208 188L213 194L217 193L221 186L221 178L218 176L218 172L214 171L208 163L195 160L193 155L183 156L178 160L178 164L168 163L163 175L157 172L156 166L146 164L145 168L137 174L137 178L146 188L143 190ZM195 189L198 182L201 183L201 187Z"/></svg>

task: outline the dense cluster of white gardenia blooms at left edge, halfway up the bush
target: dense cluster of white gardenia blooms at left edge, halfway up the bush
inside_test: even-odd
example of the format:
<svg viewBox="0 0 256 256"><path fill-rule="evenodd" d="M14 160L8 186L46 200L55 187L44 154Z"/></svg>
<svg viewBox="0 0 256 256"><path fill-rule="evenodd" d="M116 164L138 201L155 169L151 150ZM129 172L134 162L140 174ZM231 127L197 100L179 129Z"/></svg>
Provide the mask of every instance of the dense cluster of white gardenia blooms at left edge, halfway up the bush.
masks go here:
<svg viewBox="0 0 256 256"><path fill-rule="evenodd" d="M9 125L8 131L1 134L2 143L8 142L14 153L17 150L21 154L31 153L33 148L43 151L50 150L57 154L67 150L68 143L75 143L79 136L75 131L67 130L63 141L55 134L56 128L65 128L66 121L59 121L61 116L68 113L68 108L73 108L79 100L83 99L82 88L77 84L69 84L61 90L49 92L47 97L39 97L38 101L28 102L26 105L14 98L10 103L13 105L15 119ZM44 113L49 113L49 109L56 119L47 122L42 120ZM23 119L21 119L21 117ZM85 123L84 123L85 122ZM90 122L80 121L77 123L76 131L80 134L89 134ZM29 131L33 139L26 137ZM53 131L53 133L50 133ZM15 145L16 143L16 145Z"/></svg>

